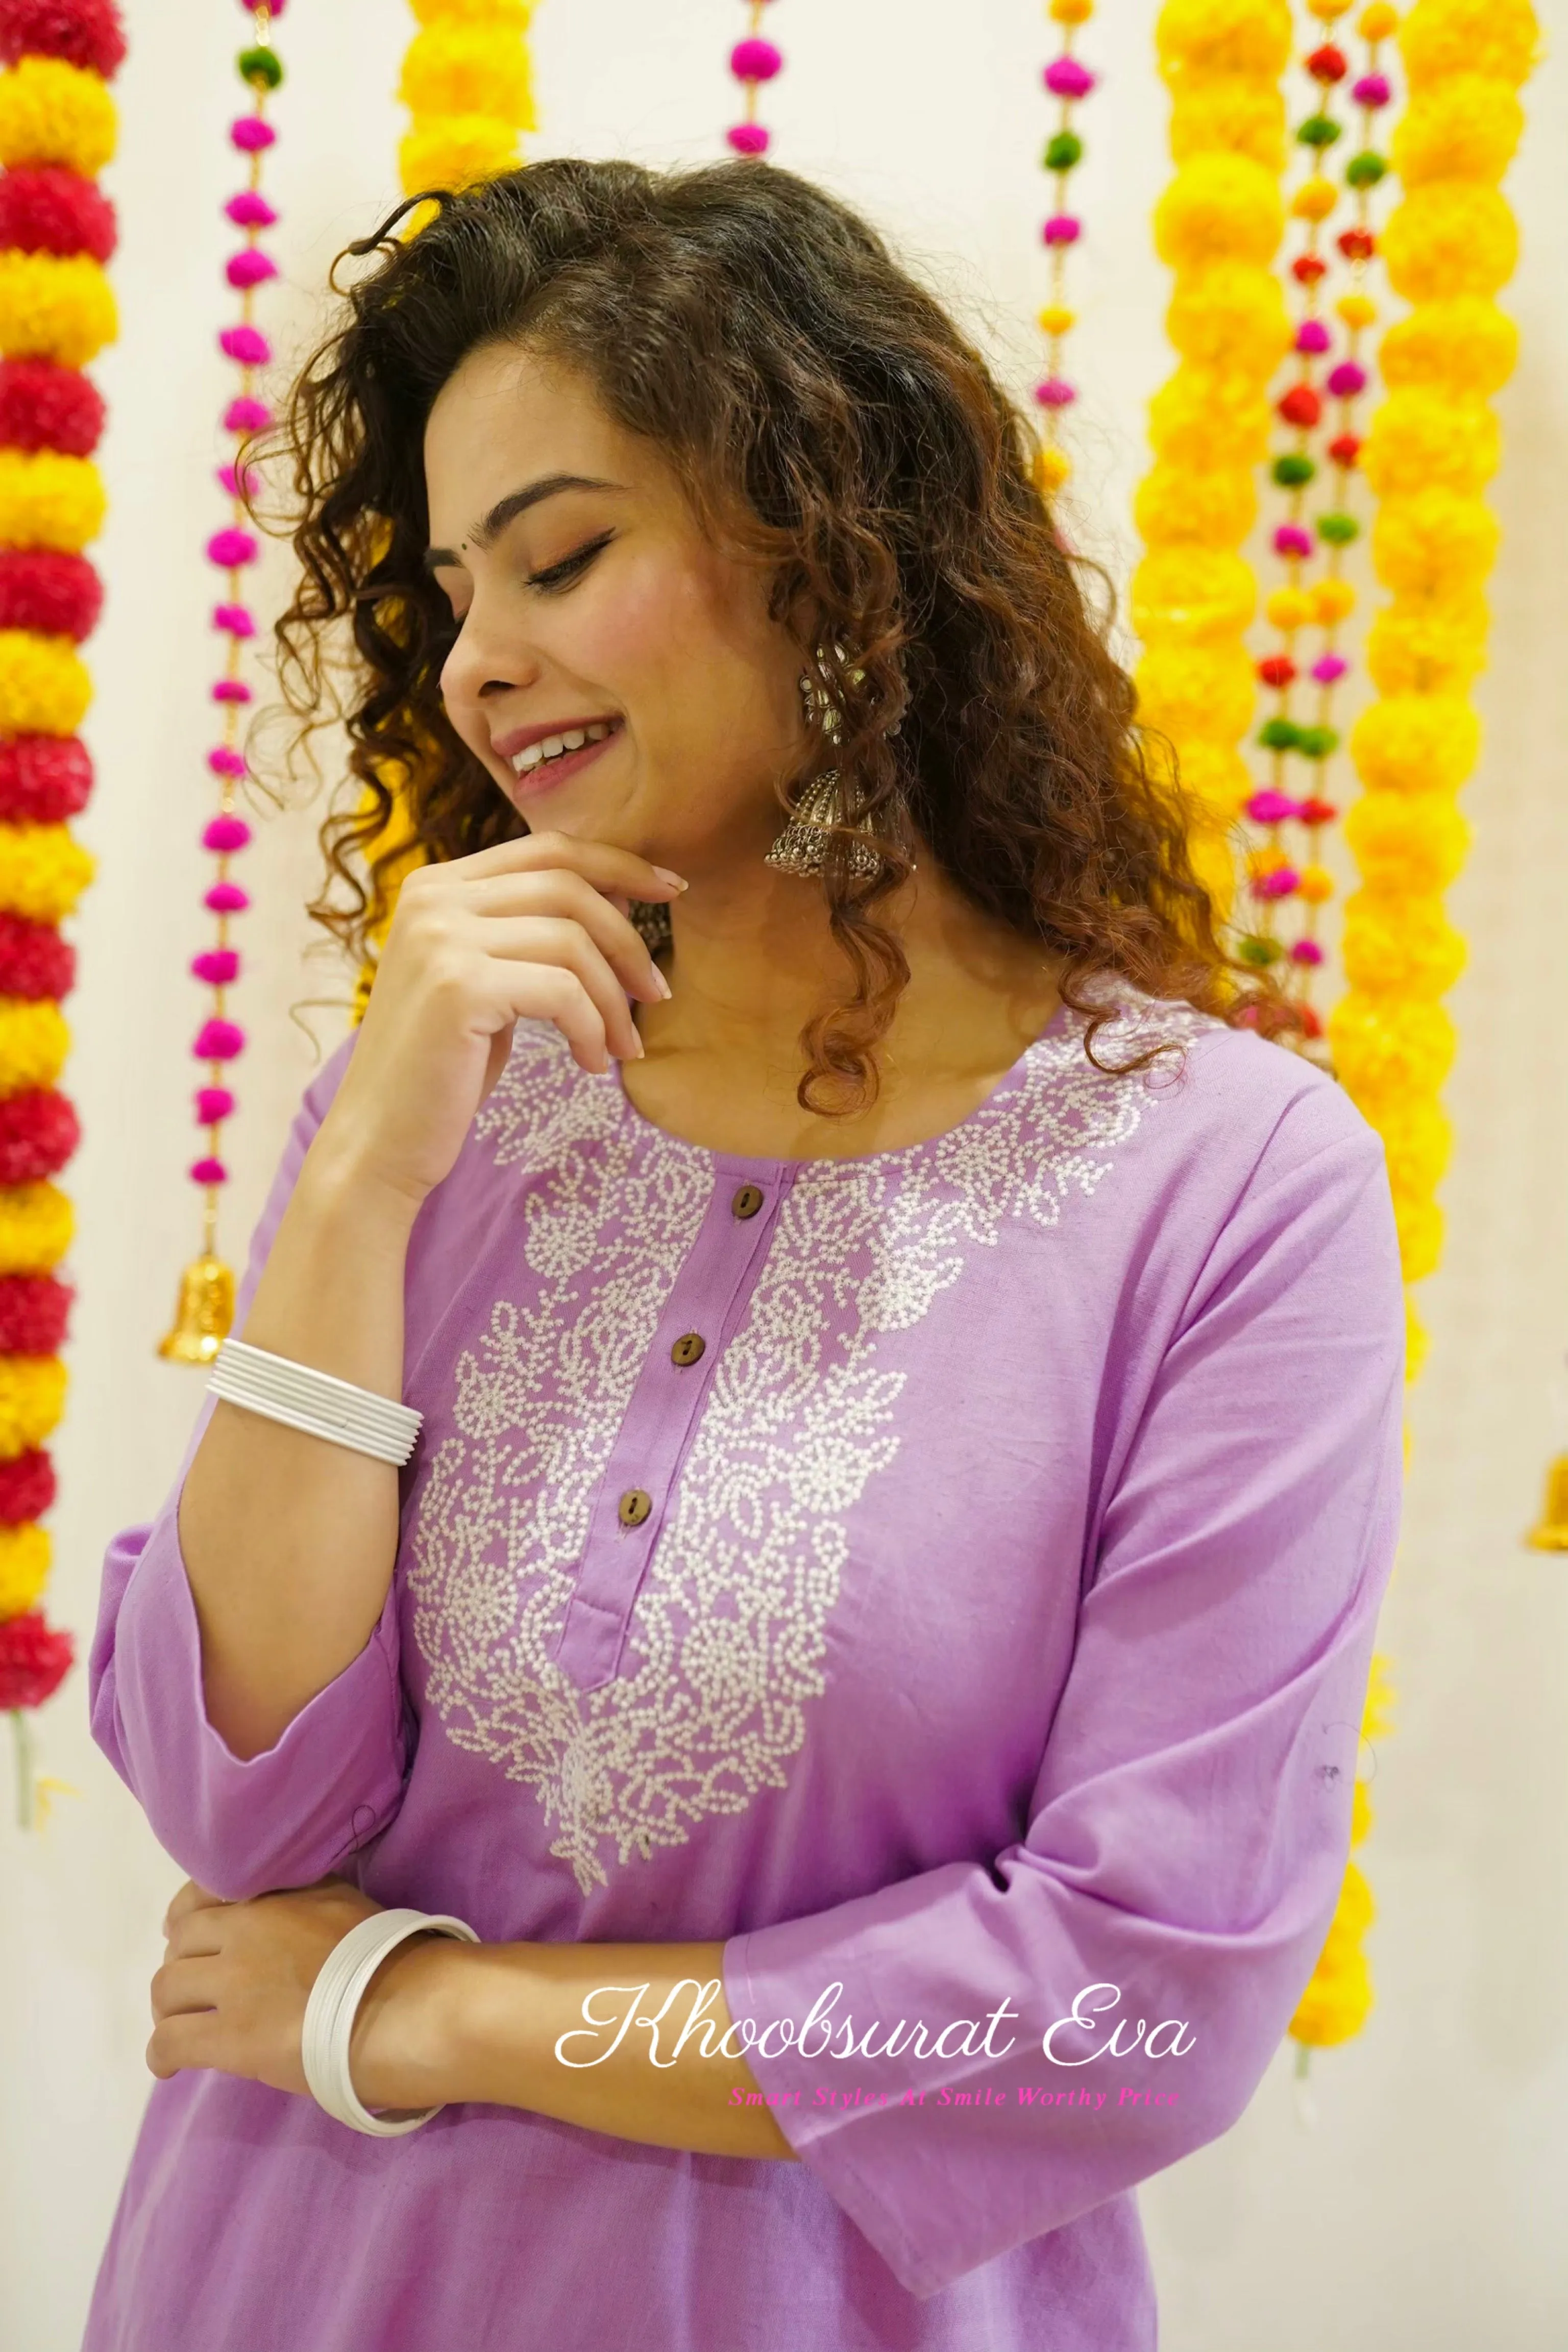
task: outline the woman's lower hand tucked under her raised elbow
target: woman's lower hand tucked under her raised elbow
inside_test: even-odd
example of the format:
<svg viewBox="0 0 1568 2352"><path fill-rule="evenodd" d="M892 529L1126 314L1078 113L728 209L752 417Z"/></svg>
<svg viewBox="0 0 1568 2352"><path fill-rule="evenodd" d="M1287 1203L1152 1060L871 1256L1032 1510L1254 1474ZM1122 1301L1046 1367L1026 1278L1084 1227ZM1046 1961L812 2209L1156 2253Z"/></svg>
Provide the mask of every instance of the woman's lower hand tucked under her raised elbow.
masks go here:
<svg viewBox="0 0 1568 2352"><path fill-rule="evenodd" d="M348 1879L254 1903L223 1903L186 1879L153 1978L153 2074L214 2067L310 2096L299 2053L310 1987L334 1943L378 1910Z"/></svg>

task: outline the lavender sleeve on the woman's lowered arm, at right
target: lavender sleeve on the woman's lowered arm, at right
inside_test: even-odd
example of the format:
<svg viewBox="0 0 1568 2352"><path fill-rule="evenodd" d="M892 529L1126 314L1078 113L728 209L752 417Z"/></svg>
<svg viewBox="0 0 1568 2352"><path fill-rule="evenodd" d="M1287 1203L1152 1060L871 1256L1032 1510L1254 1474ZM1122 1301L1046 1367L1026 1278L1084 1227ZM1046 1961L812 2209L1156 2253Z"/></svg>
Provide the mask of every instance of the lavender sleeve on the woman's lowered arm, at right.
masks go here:
<svg viewBox="0 0 1568 2352"><path fill-rule="evenodd" d="M780 2131L917 2296L1227 2131L1338 1903L1403 1404L1387 1167L1338 1089L1192 1268L1020 1839L724 1947Z"/></svg>

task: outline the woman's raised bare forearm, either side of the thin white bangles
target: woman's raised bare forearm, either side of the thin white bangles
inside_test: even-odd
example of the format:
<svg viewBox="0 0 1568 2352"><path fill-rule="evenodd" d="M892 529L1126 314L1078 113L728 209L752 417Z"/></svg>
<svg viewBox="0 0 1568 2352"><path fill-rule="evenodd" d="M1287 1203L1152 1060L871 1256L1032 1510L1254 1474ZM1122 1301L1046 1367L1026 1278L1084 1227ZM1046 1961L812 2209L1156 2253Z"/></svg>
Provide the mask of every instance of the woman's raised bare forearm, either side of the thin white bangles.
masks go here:
<svg viewBox="0 0 1568 2352"><path fill-rule="evenodd" d="M402 1287L418 1202L376 1185L327 1120L237 1338L402 1395ZM397 1468L219 1399L186 1472L179 1543L207 1717L261 1755L364 1649L397 1555Z"/></svg>

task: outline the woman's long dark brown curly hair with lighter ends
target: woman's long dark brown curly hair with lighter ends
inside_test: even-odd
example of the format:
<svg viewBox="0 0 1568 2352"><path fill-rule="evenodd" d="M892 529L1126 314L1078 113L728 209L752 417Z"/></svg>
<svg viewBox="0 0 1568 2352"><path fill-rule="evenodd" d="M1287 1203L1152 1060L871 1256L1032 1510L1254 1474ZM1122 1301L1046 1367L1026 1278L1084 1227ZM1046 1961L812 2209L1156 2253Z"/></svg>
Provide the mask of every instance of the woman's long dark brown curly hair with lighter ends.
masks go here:
<svg viewBox="0 0 1568 2352"><path fill-rule="evenodd" d="M414 202L435 209L407 235ZM910 978L877 906L910 873L912 826L978 908L1063 960L1091 1056L1114 1011L1086 995L1095 974L1300 1030L1272 976L1222 943L1187 849L1197 807L1171 746L1135 724L1079 581L1103 576L1058 539L1032 426L846 205L755 160L545 160L414 198L348 256L371 266L268 440L292 468L301 560L280 680L301 734L343 720L364 788L322 826L329 882L310 906L350 955L409 858L388 830L397 797L425 858L527 833L444 715L456 623L421 562L435 395L468 353L512 341L578 369L661 447L719 543L766 567L776 616L802 600L818 616L809 743L780 804L830 746L879 856L867 875L846 833L827 840L846 978L799 1037L804 1110L877 1096L875 1047Z"/></svg>

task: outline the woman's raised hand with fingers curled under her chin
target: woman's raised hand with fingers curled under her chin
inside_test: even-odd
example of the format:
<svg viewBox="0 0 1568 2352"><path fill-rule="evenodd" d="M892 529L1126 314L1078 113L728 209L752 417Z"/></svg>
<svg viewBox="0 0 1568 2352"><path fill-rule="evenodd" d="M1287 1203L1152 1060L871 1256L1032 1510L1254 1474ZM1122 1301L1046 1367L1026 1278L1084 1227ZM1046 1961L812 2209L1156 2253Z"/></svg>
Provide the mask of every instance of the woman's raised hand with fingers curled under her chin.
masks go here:
<svg viewBox="0 0 1568 2352"><path fill-rule="evenodd" d="M555 1021L585 1070L642 1054L628 997L651 1004L668 985L625 906L684 887L630 849L564 833L416 866L313 1150L421 1202L451 1171L520 1018Z"/></svg>

